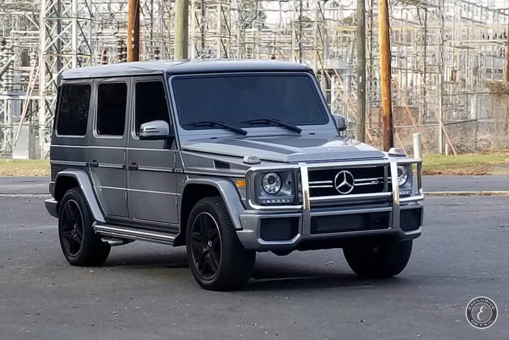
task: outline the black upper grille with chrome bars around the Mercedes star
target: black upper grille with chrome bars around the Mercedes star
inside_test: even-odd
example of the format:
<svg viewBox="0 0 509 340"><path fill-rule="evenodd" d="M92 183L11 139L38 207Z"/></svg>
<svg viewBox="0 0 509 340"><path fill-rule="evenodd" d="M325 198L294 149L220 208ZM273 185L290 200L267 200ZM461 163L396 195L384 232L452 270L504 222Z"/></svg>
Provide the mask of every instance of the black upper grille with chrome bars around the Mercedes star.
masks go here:
<svg viewBox="0 0 509 340"><path fill-rule="evenodd" d="M343 174L340 174L343 171L347 171L353 176L354 184L350 192L347 192L350 189L349 186L340 188L342 192L336 189L336 185L341 184L344 179ZM318 197L383 192L386 181L385 174L385 166L310 169L308 173L309 195ZM337 180L336 176L338 176ZM350 180L350 178L348 179Z"/></svg>

